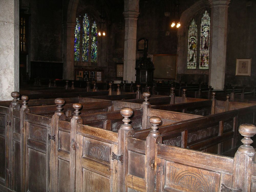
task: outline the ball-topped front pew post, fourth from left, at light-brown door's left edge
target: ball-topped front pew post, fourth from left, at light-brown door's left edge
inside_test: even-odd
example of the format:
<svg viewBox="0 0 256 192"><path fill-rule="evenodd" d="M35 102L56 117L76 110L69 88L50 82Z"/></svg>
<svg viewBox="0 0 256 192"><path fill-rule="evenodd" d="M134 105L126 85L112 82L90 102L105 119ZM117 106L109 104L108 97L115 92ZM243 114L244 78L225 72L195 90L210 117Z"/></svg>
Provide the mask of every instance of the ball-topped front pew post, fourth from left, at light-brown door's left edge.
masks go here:
<svg viewBox="0 0 256 192"><path fill-rule="evenodd" d="M70 191L75 191L76 189L76 133L77 133L77 123L83 123L81 116L79 115L80 109L82 108L81 103L74 103L73 108L75 109L73 117L70 121L71 130L70 130ZM79 182L78 182L79 183Z"/></svg>

